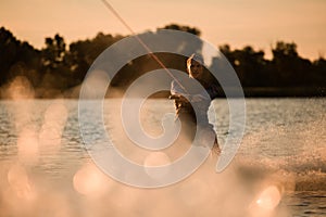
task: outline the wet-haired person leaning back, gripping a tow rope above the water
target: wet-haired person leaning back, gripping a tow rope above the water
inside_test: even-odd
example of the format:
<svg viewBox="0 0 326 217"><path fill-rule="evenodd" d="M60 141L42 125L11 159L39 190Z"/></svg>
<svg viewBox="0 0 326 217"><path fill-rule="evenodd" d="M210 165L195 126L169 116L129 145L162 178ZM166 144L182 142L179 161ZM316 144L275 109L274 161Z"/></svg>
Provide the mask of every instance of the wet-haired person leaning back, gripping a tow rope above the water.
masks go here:
<svg viewBox="0 0 326 217"><path fill-rule="evenodd" d="M213 137L213 148L220 150L213 125L208 117L211 101L217 95L217 86L206 79L201 55L192 54L187 60L187 79L172 81L170 97L175 100L176 117L181 122L181 132L191 141L196 133L200 133L201 145L211 145L204 140Z"/></svg>

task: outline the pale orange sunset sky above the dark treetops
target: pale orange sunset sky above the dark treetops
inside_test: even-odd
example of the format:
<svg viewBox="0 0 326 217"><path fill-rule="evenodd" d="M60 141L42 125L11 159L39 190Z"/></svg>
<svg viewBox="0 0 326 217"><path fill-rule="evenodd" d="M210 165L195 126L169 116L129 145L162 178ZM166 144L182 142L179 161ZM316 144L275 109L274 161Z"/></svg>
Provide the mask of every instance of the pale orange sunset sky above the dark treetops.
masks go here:
<svg viewBox="0 0 326 217"><path fill-rule="evenodd" d="M301 56L326 58L326 0L108 0L136 33L171 23L231 49L251 46L271 58L276 41L296 42ZM40 49L57 33L67 43L130 34L101 0L0 0L0 26Z"/></svg>

